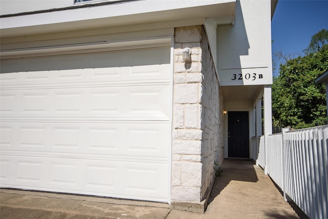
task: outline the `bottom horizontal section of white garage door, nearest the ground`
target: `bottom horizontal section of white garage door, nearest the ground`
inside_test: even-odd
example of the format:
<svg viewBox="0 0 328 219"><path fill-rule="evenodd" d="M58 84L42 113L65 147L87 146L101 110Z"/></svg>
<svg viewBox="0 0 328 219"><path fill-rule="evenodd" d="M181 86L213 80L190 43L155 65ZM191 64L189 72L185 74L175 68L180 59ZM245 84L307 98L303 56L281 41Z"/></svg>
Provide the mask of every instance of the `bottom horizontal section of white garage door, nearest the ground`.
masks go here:
<svg viewBox="0 0 328 219"><path fill-rule="evenodd" d="M2 187L93 194L166 201L167 164L94 161L69 158L2 156L1 164L15 162L17 172L2 167ZM151 166L151 167L150 167ZM7 169L6 169L7 167ZM44 171L48 170L48 174Z"/></svg>

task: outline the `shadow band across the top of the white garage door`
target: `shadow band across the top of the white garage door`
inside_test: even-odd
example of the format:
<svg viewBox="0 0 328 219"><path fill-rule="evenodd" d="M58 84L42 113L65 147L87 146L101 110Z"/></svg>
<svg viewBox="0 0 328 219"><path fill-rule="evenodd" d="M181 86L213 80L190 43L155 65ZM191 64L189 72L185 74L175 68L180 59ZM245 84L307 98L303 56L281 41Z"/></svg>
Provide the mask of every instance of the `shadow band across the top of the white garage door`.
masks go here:
<svg viewBox="0 0 328 219"><path fill-rule="evenodd" d="M141 55L142 54L142 55ZM117 68L170 63L170 47L3 59L1 73Z"/></svg>

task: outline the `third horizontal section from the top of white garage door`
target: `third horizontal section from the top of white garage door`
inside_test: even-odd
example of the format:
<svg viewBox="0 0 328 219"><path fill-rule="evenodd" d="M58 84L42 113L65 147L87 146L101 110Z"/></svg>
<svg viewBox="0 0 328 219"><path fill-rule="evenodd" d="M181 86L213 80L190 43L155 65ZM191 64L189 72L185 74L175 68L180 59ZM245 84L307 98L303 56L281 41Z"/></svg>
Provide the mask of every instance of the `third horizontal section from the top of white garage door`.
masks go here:
<svg viewBox="0 0 328 219"><path fill-rule="evenodd" d="M1 149L168 157L169 123L3 122ZM70 156L70 154L65 154Z"/></svg>

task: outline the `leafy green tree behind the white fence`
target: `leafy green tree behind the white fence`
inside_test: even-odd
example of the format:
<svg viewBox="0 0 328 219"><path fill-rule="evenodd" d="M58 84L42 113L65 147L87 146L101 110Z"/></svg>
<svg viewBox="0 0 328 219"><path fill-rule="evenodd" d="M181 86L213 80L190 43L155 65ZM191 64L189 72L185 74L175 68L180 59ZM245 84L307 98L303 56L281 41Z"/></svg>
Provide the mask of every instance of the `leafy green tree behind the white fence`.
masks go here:
<svg viewBox="0 0 328 219"><path fill-rule="evenodd" d="M318 44L314 40L317 34L306 49L307 55L280 65L280 74L274 77L272 112L275 126L300 129L326 124L325 86L315 83L315 79L328 69L328 35Z"/></svg>

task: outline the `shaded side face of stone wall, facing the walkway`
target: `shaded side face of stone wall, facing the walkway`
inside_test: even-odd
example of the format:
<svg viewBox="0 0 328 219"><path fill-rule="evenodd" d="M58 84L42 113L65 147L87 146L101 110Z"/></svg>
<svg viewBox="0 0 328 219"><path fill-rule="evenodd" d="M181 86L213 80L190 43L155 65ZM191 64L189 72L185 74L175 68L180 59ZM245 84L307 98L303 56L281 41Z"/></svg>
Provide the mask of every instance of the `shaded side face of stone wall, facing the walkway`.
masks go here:
<svg viewBox="0 0 328 219"><path fill-rule="evenodd" d="M210 52L207 35L202 29L201 33L201 51L202 51L202 69L204 75L202 81L202 187L201 191L211 189L215 172L213 170L214 162L221 165L224 158L223 147L223 97L220 92L218 78L215 72L215 65ZM206 194L204 194L206 195Z"/></svg>

